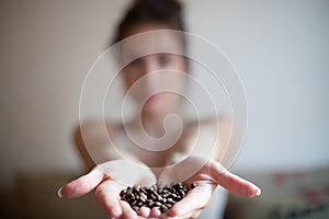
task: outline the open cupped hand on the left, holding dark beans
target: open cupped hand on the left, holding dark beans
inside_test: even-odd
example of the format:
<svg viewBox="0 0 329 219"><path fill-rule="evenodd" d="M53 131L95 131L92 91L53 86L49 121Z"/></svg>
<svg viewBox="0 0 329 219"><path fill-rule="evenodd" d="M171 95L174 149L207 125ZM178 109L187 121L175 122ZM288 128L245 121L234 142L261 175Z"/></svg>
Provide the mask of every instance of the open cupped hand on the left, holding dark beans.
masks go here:
<svg viewBox="0 0 329 219"><path fill-rule="evenodd" d="M127 185L156 184L156 176L146 166L123 160L110 161L95 166L88 174L68 183L58 191L59 197L77 198L95 189L97 200L112 218L146 218L160 215L157 209L141 208L137 215L128 203L120 197Z"/></svg>

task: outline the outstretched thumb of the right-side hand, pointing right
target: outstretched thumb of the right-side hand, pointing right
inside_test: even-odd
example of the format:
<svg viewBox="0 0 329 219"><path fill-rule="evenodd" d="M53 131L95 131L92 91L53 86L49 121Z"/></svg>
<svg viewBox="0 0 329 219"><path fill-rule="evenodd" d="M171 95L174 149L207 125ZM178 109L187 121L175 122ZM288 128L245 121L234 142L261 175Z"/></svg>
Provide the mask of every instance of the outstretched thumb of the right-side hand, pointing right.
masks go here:
<svg viewBox="0 0 329 219"><path fill-rule="evenodd" d="M212 162L211 175L216 183L237 195L245 197L261 195L261 189L258 186L228 172L218 162Z"/></svg>

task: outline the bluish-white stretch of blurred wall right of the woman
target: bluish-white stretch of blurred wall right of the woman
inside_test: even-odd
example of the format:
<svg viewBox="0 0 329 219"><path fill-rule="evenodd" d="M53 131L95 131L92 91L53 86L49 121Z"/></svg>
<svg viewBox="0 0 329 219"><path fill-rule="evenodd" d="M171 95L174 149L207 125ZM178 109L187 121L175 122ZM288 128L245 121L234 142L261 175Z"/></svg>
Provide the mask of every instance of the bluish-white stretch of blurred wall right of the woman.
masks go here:
<svg viewBox="0 0 329 219"><path fill-rule="evenodd" d="M191 30L227 53L246 87L250 123L235 166L328 164L329 1L188 2Z"/></svg>

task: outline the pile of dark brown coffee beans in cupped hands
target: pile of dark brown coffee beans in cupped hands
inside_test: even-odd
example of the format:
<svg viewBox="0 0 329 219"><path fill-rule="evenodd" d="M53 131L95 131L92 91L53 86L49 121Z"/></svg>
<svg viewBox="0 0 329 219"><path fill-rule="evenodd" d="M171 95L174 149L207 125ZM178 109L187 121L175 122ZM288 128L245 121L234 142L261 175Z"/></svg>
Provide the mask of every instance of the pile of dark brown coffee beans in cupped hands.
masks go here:
<svg viewBox="0 0 329 219"><path fill-rule="evenodd" d="M195 187L194 184L191 185L191 188L193 187ZM121 191L120 196L123 200L127 201L136 212L144 206L148 208L159 207L160 211L164 212L177 201L183 199L188 192L189 189L183 183L173 183L164 186L134 185Z"/></svg>

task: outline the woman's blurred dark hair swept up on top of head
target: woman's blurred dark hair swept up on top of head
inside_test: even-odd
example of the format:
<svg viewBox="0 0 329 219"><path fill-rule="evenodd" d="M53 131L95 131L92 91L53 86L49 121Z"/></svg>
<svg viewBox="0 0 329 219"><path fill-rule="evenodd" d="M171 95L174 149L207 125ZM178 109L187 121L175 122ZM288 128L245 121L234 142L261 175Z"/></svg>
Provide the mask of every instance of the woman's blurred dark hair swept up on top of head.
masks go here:
<svg viewBox="0 0 329 219"><path fill-rule="evenodd" d="M116 28L113 43L127 37L132 27L144 23L168 25L169 30L185 31L182 5L177 0L135 0ZM184 41L184 39L183 39ZM185 42L183 42L185 44Z"/></svg>

